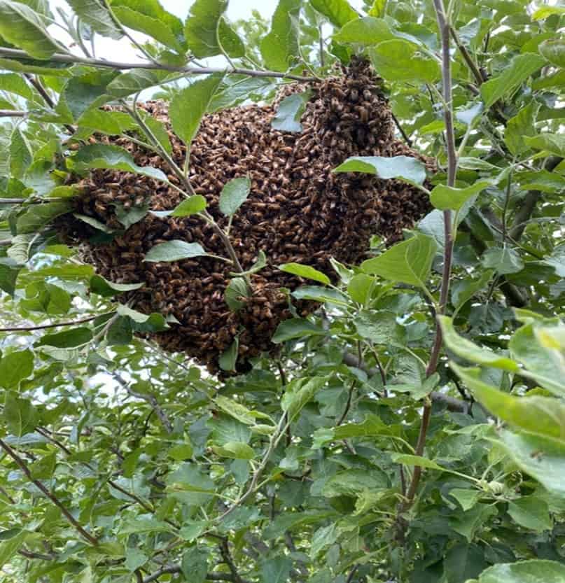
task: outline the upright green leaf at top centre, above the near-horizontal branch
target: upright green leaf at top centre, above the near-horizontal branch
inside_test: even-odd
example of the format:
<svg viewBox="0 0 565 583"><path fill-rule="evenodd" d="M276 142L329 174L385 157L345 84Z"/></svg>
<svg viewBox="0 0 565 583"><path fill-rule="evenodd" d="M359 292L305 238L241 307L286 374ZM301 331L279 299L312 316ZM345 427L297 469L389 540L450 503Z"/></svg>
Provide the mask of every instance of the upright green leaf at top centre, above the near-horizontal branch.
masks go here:
<svg viewBox="0 0 565 583"><path fill-rule="evenodd" d="M286 71L298 59L298 18L302 0L279 0L269 34L260 42L267 69Z"/></svg>

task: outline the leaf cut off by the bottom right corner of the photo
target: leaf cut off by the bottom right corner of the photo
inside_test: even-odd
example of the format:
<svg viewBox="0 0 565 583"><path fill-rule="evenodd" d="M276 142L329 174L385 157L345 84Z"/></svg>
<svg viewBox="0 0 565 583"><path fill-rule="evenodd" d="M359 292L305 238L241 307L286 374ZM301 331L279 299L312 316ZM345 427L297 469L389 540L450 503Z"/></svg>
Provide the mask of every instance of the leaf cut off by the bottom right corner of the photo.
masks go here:
<svg viewBox="0 0 565 583"><path fill-rule="evenodd" d="M478 580L468 583L565 583L565 565L556 561L499 563L484 570Z"/></svg>

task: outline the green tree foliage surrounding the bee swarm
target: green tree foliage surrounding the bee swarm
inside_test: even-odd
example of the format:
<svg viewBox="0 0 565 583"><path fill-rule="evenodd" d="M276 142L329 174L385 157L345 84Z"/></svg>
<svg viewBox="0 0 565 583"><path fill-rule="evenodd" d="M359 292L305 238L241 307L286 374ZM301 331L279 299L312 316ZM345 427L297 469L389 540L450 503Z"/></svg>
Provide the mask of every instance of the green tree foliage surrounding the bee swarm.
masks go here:
<svg viewBox="0 0 565 583"><path fill-rule="evenodd" d="M230 24L224 0L186 22L158 0L69 4L0 0L0 581L565 582L563 8L280 0L271 22ZM95 57L119 38L146 66ZM51 227L71 169L167 181L90 136L165 157L142 90L172 100L190 143L206 111L355 54L439 171L424 181L402 157L337 171L410 181L435 210L388 249L375 237L361 265L334 262L335 286L278 266L324 304L279 326L278 359L217 379L160 353L139 333L174 322L116 308L136 286L95 275ZM209 69L189 57L212 55L225 74L193 83ZM300 131L303 105L276 123ZM172 166L190 195L187 170ZM248 193L226 187L225 213ZM170 211L208 216L197 195ZM269 258L242 273L221 236L236 310ZM205 253L172 243L147 260Z"/></svg>

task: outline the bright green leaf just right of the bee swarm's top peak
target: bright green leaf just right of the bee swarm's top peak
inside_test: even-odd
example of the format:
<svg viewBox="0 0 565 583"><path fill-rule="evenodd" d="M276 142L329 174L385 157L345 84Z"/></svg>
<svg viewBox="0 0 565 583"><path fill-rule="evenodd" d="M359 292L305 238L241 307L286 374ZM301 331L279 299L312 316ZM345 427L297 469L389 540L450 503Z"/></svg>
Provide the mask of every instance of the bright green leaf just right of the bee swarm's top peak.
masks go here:
<svg viewBox="0 0 565 583"><path fill-rule="evenodd" d="M435 83L441 78L440 64L402 38L379 43L370 57L377 73L387 80Z"/></svg>

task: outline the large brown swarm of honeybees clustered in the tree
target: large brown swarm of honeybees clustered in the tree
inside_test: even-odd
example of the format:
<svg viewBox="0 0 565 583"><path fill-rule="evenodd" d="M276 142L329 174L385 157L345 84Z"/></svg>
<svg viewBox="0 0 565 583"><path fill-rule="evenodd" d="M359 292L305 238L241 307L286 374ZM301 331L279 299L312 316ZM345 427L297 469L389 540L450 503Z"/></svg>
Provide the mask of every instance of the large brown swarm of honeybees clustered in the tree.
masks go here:
<svg viewBox="0 0 565 583"><path fill-rule="evenodd" d="M305 87L286 86L285 94ZM386 241L428 211L421 191L395 180L366 174L333 174L352 155L419 157L394 136L391 111L379 92L368 64L356 61L343 76L312 84L312 97L302 115L302 132L280 132L271 126L274 106L241 106L205 115L190 148L190 182L207 199L208 211L225 227L218 208L223 185L249 176L251 194L233 218L230 240L244 269L263 251L267 267L251 275L252 292L239 311L224 299L233 266L210 257L176 262L144 262L155 244L172 239L199 242L213 255L225 256L218 234L198 216L160 217L148 213L111 241L91 239L95 230L65 216L60 230L81 243L85 260L110 281L144 282L120 296L144 313L172 315L179 324L154 335L166 351L184 351L209 370L239 337L239 370L260 353L274 351L271 338L277 325L295 314L306 316L314 302L295 302L281 288L295 289L304 281L277 269L298 262L334 279L330 258L355 264L365 257L372 234ZM279 99L280 101L280 99ZM165 122L179 167L186 146L173 134L162 101L143 104L146 113ZM126 138L97 137L127 149L139 166L162 169L179 184L167 162ZM433 170L433 161L424 160ZM71 178L78 181L78 177ZM174 209L181 202L176 190L145 176L124 171L96 170L78 182L76 213L120 228L116 204L124 209L148 206L152 211ZM180 186L180 184L179 184ZM123 227L122 227L123 228ZM312 282L310 282L312 283Z"/></svg>

